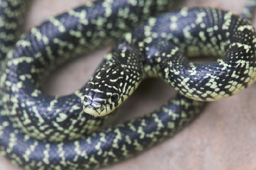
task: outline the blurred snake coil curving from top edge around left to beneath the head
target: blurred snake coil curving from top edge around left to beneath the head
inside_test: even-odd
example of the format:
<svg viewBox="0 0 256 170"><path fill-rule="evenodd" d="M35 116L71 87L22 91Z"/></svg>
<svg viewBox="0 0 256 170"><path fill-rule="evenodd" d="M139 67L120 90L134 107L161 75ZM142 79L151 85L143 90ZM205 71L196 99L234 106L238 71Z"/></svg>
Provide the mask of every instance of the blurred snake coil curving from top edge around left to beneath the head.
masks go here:
<svg viewBox="0 0 256 170"><path fill-rule="evenodd" d="M115 5L111 6L112 3ZM42 77L68 58L108 44L171 4L168 0L97 1L33 27L22 35L3 64L3 114L9 115L16 127L38 139L72 140L95 131L107 117L92 119L84 114L83 88L69 96L48 96L39 88Z"/></svg>

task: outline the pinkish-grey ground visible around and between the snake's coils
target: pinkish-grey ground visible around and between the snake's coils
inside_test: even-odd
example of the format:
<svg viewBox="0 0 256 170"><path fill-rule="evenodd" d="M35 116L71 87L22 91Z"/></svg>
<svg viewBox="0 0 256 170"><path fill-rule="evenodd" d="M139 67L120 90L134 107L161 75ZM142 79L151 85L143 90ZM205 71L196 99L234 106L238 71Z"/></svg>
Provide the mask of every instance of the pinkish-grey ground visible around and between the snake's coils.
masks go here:
<svg viewBox="0 0 256 170"><path fill-rule="evenodd" d="M86 0L34 0L27 15L26 29L46 18L79 6ZM241 12L244 0L183 0L180 6L214 6ZM254 21L256 26L256 20ZM100 63L106 49L77 59L48 79L50 94L68 94L80 88ZM58 77L57 77L58 76ZM156 92L160 89L159 92ZM160 106L173 89L150 79L120 110L122 120L147 113ZM209 103L190 126L162 144L135 158L102 170L255 170L256 169L256 84L228 99ZM112 123L115 123L115 120ZM0 157L1 170L21 170Z"/></svg>

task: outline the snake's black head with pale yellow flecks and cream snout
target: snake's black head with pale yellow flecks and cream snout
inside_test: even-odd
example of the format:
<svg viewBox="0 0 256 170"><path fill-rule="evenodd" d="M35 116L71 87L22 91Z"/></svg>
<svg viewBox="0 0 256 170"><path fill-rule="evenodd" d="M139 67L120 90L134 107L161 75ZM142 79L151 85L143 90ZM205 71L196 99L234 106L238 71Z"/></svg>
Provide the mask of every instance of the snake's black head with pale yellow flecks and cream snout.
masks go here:
<svg viewBox="0 0 256 170"><path fill-rule="evenodd" d="M104 116L121 105L137 88L142 77L138 50L123 44L106 55L85 87L83 110Z"/></svg>

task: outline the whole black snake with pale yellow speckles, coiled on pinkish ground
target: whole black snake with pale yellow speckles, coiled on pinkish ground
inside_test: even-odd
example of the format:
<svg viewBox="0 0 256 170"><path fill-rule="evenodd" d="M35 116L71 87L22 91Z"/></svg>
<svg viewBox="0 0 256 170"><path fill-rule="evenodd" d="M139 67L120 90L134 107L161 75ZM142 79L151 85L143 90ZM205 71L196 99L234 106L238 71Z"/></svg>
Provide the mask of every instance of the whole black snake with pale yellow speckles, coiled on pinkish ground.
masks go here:
<svg viewBox="0 0 256 170"><path fill-rule="evenodd" d="M256 80L252 0L242 16L209 7L157 15L174 0L99 0L23 34L27 1L0 2L0 154L25 170L96 169L130 158L188 125L202 101L237 94ZM57 66L113 42L83 88L65 96L41 90ZM221 57L207 64L186 58L198 55ZM154 76L177 96L142 117L99 128Z"/></svg>

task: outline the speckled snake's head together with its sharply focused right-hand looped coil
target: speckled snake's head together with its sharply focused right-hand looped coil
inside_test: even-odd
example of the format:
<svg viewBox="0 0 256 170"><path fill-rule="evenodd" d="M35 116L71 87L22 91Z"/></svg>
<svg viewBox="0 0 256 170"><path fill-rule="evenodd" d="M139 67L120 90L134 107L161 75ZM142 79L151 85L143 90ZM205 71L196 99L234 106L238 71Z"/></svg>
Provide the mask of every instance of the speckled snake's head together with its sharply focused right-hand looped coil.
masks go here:
<svg viewBox="0 0 256 170"><path fill-rule="evenodd" d="M106 55L85 87L84 111L109 114L148 76L162 78L193 100L230 97L255 82L255 49L253 26L232 12L182 8L150 18ZM186 56L223 57L197 64L181 51Z"/></svg>

